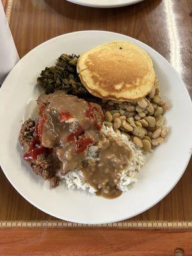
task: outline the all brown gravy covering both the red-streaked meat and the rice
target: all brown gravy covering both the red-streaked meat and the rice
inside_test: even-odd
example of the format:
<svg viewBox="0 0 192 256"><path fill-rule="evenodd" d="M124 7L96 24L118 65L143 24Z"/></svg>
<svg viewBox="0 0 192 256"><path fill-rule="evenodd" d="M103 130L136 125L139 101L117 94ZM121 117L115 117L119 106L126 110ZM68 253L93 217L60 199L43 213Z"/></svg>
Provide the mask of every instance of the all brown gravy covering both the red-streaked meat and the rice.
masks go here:
<svg viewBox="0 0 192 256"><path fill-rule="evenodd" d="M61 175L75 168L81 170L96 195L116 198L122 193L117 185L129 164L131 150L122 141L100 132L99 126L95 125L96 115L87 114L90 108L96 109L97 115L101 111L97 104L92 103L90 107L76 96L52 93L40 113L41 143L52 148L52 154L60 160ZM85 159L90 145L97 148L97 159Z"/></svg>

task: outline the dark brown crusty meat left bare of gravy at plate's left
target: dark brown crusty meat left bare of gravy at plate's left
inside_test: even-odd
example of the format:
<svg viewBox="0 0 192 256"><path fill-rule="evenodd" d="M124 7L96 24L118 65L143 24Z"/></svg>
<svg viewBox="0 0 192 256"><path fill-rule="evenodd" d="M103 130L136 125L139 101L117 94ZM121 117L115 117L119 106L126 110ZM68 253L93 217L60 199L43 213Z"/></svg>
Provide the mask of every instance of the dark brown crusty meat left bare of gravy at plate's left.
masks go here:
<svg viewBox="0 0 192 256"><path fill-rule="evenodd" d="M24 122L20 130L19 141L24 149L24 153L28 152L30 141L35 138L35 121L30 118ZM51 187L59 185L60 178L56 176L56 172L52 166L51 154L41 154L36 160L28 161L33 172L40 175L44 180L51 182Z"/></svg>

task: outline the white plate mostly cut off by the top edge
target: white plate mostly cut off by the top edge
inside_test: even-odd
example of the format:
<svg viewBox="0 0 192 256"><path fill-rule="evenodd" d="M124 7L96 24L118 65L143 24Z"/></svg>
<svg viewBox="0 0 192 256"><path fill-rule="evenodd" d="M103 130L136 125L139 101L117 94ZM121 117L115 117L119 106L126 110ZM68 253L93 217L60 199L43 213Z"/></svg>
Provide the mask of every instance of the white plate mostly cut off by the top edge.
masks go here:
<svg viewBox="0 0 192 256"><path fill-rule="evenodd" d="M143 0L67 0L68 2L97 8L112 8L139 3Z"/></svg>

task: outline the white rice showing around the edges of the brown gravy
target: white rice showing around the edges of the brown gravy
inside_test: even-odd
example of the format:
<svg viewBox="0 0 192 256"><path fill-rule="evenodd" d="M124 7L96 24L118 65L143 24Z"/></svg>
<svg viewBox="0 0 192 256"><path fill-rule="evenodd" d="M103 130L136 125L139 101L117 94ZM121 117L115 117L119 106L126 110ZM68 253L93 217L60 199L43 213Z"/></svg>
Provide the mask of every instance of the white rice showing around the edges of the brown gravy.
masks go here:
<svg viewBox="0 0 192 256"><path fill-rule="evenodd" d="M124 134L117 134L113 131L111 127L105 127L103 125L101 132L106 136L113 136L118 140L122 140L126 145L129 146L132 150L132 157L130 159L129 166L126 170L122 172L122 177L120 178L120 182L118 184L118 188L122 191L127 191L130 184L132 182L136 182L136 174L140 172L141 167L145 163L145 156L140 148L138 148L132 141L130 141L126 135ZM88 156L86 159L95 159L97 158L97 147L91 146L88 149ZM89 191L90 193L95 193L94 188L92 188L86 180L84 180L83 173L81 170L72 170L68 172L65 176L61 177L65 183L67 184L68 188L71 189L83 189Z"/></svg>

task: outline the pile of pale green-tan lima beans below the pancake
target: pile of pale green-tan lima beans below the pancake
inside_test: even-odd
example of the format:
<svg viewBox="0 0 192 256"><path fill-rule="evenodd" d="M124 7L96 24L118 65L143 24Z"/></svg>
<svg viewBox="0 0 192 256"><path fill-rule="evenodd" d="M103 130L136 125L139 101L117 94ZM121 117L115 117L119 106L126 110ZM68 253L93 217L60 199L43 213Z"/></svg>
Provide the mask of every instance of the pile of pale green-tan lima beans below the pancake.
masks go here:
<svg viewBox="0 0 192 256"><path fill-rule="evenodd" d="M134 102L102 100L102 109L106 126L113 125L115 132L124 133L147 152L163 143L168 134L163 114L170 106L161 99L157 79L152 92L143 99Z"/></svg>

